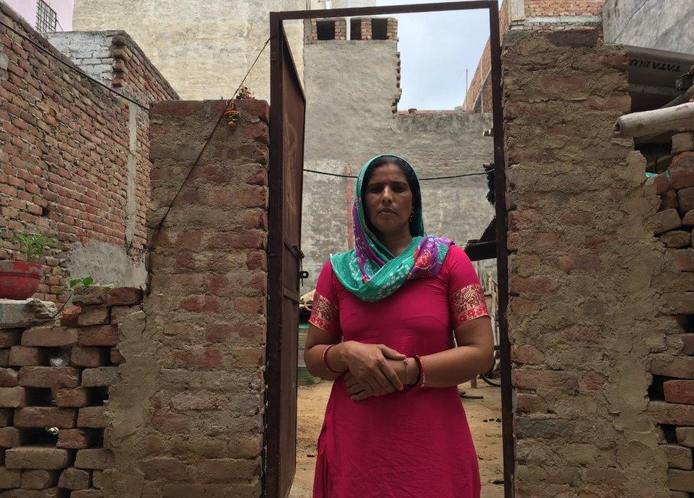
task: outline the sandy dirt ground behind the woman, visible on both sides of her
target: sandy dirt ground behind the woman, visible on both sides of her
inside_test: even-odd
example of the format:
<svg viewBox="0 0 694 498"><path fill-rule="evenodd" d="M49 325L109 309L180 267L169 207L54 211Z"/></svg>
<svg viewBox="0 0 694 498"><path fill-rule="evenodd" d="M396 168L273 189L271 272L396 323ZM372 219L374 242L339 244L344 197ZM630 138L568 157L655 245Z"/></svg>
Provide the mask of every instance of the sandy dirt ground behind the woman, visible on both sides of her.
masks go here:
<svg viewBox="0 0 694 498"><path fill-rule="evenodd" d="M503 497L503 463L501 450L501 389L478 381L473 389L469 383L460 386L467 395L483 399L461 399L465 407L472 437L477 449L482 498ZM290 498L311 497L316 463L316 440L321 433L325 406L332 383L299 387L297 418L297 475ZM496 419L498 418L499 421ZM487 420L486 422L484 420ZM498 484L493 484L493 482Z"/></svg>

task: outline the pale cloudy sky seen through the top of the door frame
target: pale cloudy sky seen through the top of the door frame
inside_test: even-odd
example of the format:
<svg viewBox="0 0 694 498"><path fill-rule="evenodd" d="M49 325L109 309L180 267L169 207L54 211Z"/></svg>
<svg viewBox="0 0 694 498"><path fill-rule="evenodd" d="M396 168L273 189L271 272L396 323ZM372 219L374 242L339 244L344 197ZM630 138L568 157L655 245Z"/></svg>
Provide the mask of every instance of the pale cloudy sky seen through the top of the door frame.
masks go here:
<svg viewBox="0 0 694 498"><path fill-rule="evenodd" d="M439 4L442 0L377 0L376 5ZM484 10L395 14L400 51L397 107L407 110L453 109L465 97L468 80L477 68L489 38L489 13Z"/></svg>

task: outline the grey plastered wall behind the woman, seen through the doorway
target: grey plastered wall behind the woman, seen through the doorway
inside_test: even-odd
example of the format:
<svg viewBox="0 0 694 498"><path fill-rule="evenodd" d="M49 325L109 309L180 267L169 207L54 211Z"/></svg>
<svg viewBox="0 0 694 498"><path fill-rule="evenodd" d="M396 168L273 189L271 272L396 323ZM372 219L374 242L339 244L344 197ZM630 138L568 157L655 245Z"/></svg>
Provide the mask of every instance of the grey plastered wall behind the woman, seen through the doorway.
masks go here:
<svg viewBox="0 0 694 498"><path fill-rule="evenodd" d="M491 115L438 112L394 115L399 95L395 41L317 41L304 47L306 143L304 168L357 174L370 157L405 157L420 177L482 171L493 160L483 137ZM331 253L348 248L347 219L354 180L304 173L301 249L307 292ZM486 176L422 183L425 229L464 245L493 217ZM493 261L487 264L493 267Z"/></svg>

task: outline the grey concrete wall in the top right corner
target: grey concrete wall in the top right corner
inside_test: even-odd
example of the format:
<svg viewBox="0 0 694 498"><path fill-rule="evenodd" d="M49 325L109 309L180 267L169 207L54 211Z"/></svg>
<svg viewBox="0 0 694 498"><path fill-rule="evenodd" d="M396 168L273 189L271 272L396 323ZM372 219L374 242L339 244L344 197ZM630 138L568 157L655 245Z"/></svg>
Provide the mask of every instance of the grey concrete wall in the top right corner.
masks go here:
<svg viewBox="0 0 694 498"><path fill-rule="evenodd" d="M691 0L605 0L605 41L694 54Z"/></svg>

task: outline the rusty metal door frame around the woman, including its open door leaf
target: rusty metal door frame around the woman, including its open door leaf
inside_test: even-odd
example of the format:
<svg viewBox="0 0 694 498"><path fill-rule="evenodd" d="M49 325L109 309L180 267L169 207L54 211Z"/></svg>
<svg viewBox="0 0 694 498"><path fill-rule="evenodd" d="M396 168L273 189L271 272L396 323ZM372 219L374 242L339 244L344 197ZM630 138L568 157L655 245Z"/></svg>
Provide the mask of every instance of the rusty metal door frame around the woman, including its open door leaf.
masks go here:
<svg viewBox="0 0 694 498"><path fill-rule="evenodd" d="M495 258L498 292L498 356L501 371L504 492L511 496L513 435L511 360L504 312L508 303L505 178L501 127L501 51L496 1L287 11L271 13L271 99L268 240L267 404L265 430L265 496L287 496L296 469L297 350L301 260L301 193L304 173L306 95L301 88L283 21L348 18L384 14L486 9L489 11L493 92L493 176L496 221L484 240L476 241L476 258ZM334 26L334 24L333 24ZM470 255L471 253L469 253Z"/></svg>

